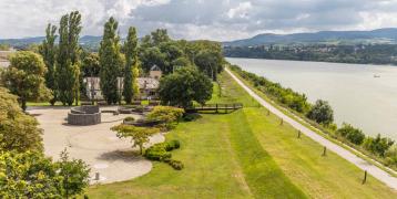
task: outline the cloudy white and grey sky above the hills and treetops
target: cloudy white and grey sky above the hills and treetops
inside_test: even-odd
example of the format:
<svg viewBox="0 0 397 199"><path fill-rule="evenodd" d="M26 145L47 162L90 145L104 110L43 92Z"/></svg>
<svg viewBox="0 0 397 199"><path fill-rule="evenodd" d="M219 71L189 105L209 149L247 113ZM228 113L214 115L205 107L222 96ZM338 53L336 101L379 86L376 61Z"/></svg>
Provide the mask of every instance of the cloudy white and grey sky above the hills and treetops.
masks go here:
<svg viewBox="0 0 397 199"><path fill-rule="evenodd" d="M140 36L162 28L187 40L397 28L397 0L0 0L0 39L44 35L74 10L82 35L102 35L110 17L122 36L133 25Z"/></svg>

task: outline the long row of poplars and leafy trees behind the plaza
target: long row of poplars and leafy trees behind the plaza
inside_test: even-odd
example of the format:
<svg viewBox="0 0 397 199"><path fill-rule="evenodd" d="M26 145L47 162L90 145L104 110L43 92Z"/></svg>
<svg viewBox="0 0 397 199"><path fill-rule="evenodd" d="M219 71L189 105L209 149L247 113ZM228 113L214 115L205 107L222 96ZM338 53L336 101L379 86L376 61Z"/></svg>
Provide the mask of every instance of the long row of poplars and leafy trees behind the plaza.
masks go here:
<svg viewBox="0 0 397 199"><path fill-rule="evenodd" d="M51 105L57 102L63 105L78 104L81 98L89 97L84 77L101 77L100 88L108 104L130 104L132 100L140 98L136 78L144 76L154 65L159 66L164 75L180 67L193 66L213 81L216 81L223 69L222 46L217 42L172 40L163 29L153 31L140 41L134 27L130 27L126 39L122 42L119 23L114 18L110 18L104 24L99 52L89 52L80 45L82 29L81 14L78 11L64 14L58 27L48 24L42 44L29 49L29 53L21 52L24 55L11 57L10 70L6 70L3 74L8 74L4 85L21 97L23 109L27 101L44 98L50 98ZM31 54L33 52L41 56ZM42 67L42 61L45 69ZM35 65L18 67L18 63ZM33 90L33 86L18 82L18 75L22 73L17 74L17 71L26 72L28 67L40 69L40 73L33 71L32 74L35 74L34 78L43 82L44 86L40 84L42 90L37 91L37 95L22 97L21 94L31 93L29 90ZM124 80L122 91L119 91L120 77ZM38 81L33 83L39 85Z"/></svg>

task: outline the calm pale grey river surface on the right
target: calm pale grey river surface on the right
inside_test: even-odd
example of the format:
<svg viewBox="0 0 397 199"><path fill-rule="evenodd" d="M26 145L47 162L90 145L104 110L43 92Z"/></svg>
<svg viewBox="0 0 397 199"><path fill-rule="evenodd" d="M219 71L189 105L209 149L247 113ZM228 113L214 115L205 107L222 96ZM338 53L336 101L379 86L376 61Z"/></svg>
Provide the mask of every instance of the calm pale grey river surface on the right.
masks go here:
<svg viewBox="0 0 397 199"><path fill-rule="evenodd" d="M311 102L326 100L335 121L397 139L397 66L227 59L243 70L278 82ZM380 77L374 77L378 75Z"/></svg>

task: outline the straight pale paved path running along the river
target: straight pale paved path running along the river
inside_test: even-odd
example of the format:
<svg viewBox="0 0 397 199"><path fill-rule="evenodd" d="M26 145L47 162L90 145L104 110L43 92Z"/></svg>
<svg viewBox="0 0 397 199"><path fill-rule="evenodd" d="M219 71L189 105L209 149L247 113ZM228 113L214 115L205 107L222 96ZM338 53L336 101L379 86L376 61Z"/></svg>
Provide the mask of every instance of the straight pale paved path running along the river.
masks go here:
<svg viewBox="0 0 397 199"><path fill-rule="evenodd" d="M279 118L283 118L284 122L291 124L294 128L301 130L307 137L312 138L313 140L317 142L318 144L326 146L327 149L334 151L335 154L339 155L340 157L345 158L346 160L350 161L352 164L356 165L358 168L363 170L367 170L368 174L377 178L378 180L383 181L390 188L397 190L397 178L390 176L388 172L381 170L377 166L369 164L368 161L364 160L360 157L357 157L355 154L350 153L349 150L332 143L330 140L324 138L323 136L318 135L317 133L311 130L306 126L302 125L301 123L296 122L295 119L291 118L289 116L285 115L283 112L274 107L272 104L264 101L261 96L258 96L255 92L253 92L250 87L247 87L241 80L238 80L228 69L225 71L252 96L254 97L259 104L264 107L269 109L273 114L277 115Z"/></svg>

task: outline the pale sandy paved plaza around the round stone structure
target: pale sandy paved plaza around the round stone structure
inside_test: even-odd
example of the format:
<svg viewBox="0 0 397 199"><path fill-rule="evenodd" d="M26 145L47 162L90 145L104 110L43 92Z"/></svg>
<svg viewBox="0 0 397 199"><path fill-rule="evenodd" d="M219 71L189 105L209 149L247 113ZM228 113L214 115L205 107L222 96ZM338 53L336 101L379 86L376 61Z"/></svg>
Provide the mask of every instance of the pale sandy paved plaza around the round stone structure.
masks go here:
<svg viewBox="0 0 397 199"><path fill-rule="evenodd" d="M105 109L116 108L106 107ZM124 181L147 174L152 163L141 156L132 155L130 139L120 139L110 130L121 124L126 116L140 118L140 115L102 114L102 123L92 126L71 126L65 124L70 107L29 107L40 127L44 129L44 154L59 159L60 153L67 148L70 157L84 160L91 168L91 184L110 184ZM150 138L150 144L164 142L162 134ZM146 147L149 146L146 145ZM100 172L100 180L95 180Z"/></svg>

